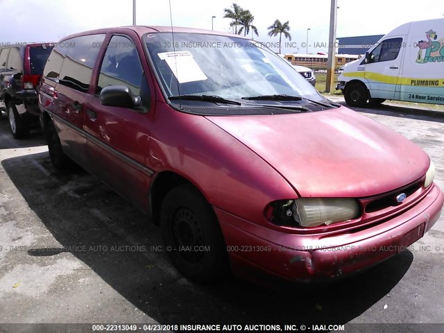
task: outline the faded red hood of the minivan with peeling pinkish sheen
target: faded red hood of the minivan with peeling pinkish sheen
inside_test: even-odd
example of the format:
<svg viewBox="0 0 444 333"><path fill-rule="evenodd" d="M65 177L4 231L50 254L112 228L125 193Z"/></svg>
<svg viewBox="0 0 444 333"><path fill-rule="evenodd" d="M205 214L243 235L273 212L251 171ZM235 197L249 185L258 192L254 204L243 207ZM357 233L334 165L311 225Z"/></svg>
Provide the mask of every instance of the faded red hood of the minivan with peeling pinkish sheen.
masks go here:
<svg viewBox="0 0 444 333"><path fill-rule="evenodd" d="M418 180L429 157L377 121L341 107L302 114L207 117L303 197L366 197Z"/></svg>

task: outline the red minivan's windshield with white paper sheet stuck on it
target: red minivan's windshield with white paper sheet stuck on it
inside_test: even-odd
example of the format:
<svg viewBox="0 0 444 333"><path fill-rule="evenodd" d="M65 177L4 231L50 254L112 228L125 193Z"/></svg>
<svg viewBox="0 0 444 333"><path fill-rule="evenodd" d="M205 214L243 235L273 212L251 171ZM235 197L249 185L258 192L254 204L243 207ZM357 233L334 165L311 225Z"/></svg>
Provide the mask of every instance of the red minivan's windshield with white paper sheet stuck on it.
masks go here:
<svg viewBox="0 0 444 333"><path fill-rule="evenodd" d="M147 33L144 43L171 101L197 100L193 95L254 104L326 101L289 62L254 40L170 32Z"/></svg>

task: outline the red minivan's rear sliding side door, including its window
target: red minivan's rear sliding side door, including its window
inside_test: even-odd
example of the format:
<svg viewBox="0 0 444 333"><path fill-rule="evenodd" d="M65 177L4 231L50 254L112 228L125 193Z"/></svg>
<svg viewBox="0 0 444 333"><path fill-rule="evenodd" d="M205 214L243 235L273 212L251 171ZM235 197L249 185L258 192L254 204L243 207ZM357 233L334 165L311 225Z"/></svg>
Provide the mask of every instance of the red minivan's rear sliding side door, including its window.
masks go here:
<svg viewBox="0 0 444 333"><path fill-rule="evenodd" d="M85 139L85 101L89 92L92 71L105 34L85 35L66 40L60 45L67 48L60 69L53 119L63 151L85 169L89 169Z"/></svg>

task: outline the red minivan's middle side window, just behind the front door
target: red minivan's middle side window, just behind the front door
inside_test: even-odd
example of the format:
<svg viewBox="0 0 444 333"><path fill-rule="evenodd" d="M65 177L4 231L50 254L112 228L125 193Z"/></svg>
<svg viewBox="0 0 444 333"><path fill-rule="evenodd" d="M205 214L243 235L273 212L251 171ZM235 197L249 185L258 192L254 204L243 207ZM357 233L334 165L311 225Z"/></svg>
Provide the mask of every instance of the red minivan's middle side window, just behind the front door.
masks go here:
<svg viewBox="0 0 444 333"><path fill-rule="evenodd" d="M105 35L86 35L62 42L67 55L60 69L59 83L80 92L87 92L92 71Z"/></svg>

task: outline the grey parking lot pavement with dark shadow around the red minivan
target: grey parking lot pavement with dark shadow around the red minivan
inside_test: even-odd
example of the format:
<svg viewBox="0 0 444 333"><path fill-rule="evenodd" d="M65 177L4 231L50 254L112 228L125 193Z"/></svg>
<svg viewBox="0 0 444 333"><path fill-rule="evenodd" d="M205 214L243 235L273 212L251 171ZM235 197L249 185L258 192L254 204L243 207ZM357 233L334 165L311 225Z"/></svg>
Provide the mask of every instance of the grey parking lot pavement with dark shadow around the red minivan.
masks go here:
<svg viewBox="0 0 444 333"><path fill-rule="evenodd" d="M444 118L355 110L421 146L444 188ZM3 114L0 164L0 323L444 323L444 216L410 250L332 284L202 286L130 203L78 167L53 169L39 128L16 141Z"/></svg>

